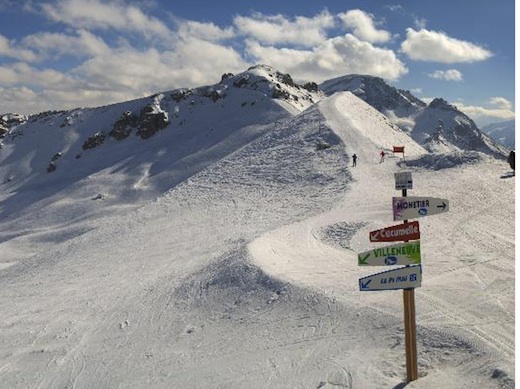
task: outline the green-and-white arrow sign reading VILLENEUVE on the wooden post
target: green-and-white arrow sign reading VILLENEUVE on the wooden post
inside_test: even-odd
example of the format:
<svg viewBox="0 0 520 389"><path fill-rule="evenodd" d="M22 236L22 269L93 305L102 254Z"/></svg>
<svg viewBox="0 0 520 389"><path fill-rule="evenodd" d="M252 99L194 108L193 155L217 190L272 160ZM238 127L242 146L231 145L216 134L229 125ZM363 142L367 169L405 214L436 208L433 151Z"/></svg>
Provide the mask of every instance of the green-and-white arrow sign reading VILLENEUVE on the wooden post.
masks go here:
<svg viewBox="0 0 520 389"><path fill-rule="evenodd" d="M381 247L358 255L359 266L417 265L421 263L421 241Z"/></svg>

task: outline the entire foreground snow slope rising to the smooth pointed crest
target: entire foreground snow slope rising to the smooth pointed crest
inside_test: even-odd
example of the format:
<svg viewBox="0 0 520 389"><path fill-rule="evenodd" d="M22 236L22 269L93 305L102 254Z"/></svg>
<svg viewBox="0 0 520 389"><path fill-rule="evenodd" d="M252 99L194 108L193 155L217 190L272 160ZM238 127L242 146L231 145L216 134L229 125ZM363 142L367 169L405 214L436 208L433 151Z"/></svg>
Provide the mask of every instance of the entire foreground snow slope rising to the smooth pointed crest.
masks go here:
<svg viewBox="0 0 520 389"><path fill-rule="evenodd" d="M404 387L400 293L358 292L371 271L356 266L368 231L393 224L402 168L410 195L451 208L421 220L421 378L406 387L513 388L514 178L486 157L380 164L396 141L407 159L424 153L340 93L136 210L82 220L63 207L83 233L56 228L43 249L31 215L12 216L0 229L18 260L0 270L0 386Z"/></svg>

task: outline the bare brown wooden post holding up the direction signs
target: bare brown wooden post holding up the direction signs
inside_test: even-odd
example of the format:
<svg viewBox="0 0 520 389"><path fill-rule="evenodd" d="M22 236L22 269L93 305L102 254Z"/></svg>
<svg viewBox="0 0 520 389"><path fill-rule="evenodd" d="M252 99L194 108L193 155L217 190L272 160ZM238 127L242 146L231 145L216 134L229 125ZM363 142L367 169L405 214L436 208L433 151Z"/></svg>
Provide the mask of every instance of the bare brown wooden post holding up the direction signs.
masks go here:
<svg viewBox="0 0 520 389"><path fill-rule="evenodd" d="M407 196L403 189L403 197ZM408 220L404 220L408 223ZM406 351L406 379L407 382L419 378L417 369L417 330L415 326L415 289L403 289L404 304L404 343Z"/></svg>

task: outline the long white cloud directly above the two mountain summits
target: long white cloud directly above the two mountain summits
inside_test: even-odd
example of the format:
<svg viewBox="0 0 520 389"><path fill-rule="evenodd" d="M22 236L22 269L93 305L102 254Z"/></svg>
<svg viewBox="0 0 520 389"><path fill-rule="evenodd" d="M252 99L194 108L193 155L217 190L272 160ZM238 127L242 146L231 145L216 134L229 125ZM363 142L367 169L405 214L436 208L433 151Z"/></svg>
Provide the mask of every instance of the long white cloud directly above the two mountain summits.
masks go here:
<svg viewBox="0 0 520 389"><path fill-rule="evenodd" d="M279 49L254 41L249 41L246 49L256 62L267 63L301 80L321 82L352 73L395 80L408 72L393 51L374 47L351 34L328 39L310 50Z"/></svg>

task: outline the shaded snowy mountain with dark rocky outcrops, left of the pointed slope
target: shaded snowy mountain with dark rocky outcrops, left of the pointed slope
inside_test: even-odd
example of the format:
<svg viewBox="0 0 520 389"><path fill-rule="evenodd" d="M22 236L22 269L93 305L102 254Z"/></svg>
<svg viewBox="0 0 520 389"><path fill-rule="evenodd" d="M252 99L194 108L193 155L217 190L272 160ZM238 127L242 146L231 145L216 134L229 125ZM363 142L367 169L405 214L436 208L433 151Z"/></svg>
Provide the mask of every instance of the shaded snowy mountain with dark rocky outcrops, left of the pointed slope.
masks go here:
<svg viewBox="0 0 520 389"><path fill-rule="evenodd" d="M118 185L93 196L108 202L130 195L149 199L321 97L315 85L300 86L289 75L256 66L236 76L225 74L215 85L105 107L2 115L0 125L8 131L0 150L0 182L8 182L11 191L93 187L93 176L108 169ZM20 198L12 201L24 204Z"/></svg>

